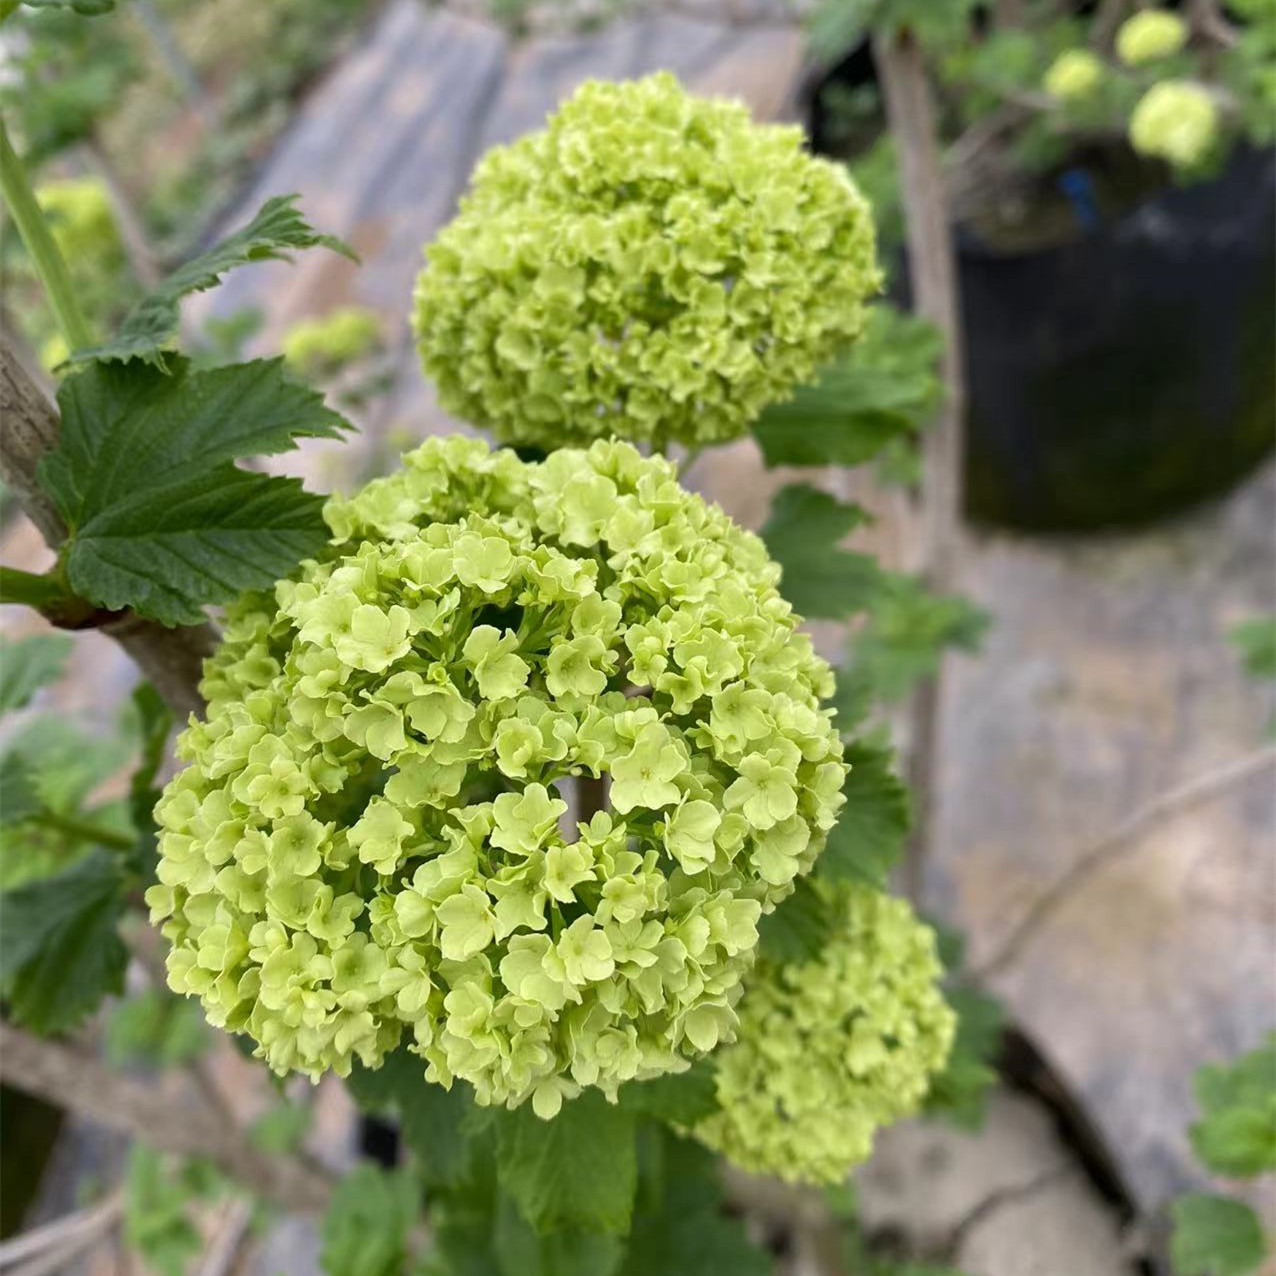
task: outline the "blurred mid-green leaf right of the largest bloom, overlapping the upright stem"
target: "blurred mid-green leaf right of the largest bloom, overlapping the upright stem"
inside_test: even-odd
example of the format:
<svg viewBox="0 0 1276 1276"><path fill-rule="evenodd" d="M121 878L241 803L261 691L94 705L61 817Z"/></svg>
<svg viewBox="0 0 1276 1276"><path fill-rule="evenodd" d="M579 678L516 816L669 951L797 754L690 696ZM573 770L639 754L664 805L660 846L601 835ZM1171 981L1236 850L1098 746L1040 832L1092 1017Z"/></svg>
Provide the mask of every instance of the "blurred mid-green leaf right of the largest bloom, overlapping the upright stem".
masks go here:
<svg viewBox="0 0 1276 1276"><path fill-rule="evenodd" d="M847 690L860 701L896 703L930 678L948 649L979 649L988 612L957 595L931 593L917 577L888 572L851 638Z"/></svg>

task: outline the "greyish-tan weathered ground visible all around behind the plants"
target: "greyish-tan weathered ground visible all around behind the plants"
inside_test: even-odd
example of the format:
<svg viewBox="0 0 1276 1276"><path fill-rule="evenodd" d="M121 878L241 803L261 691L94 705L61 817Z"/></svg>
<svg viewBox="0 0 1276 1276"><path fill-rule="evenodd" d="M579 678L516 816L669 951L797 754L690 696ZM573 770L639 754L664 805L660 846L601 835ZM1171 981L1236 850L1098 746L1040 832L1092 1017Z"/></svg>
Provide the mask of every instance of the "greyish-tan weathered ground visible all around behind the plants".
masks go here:
<svg viewBox="0 0 1276 1276"><path fill-rule="evenodd" d="M420 245L450 214L484 148L538 125L588 74L657 66L777 117L791 110L801 54L787 28L670 14L516 46L493 28L392 0L304 105L244 202L246 212L268 194L300 191L313 219L350 239L364 265L310 253L293 267L245 271L191 315L259 305L264 348L300 315L334 305L357 301L384 316L397 369L388 402L356 447L308 447L287 468L316 486L351 487L385 463L392 431L416 439L454 427L417 371L404 322ZM697 482L757 527L777 476L739 444L702 462ZM906 512L859 495L884 516L874 547L907 563ZM928 901L967 931L976 966L1133 809L1259 746L1276 704L1242 678L1224 632L1276 606L1273 500L1268 471L1147 533L972 537L967 592L995 624L984 655L954 662L947 684ZM42 565L20 524L5 536L5 556ZM50 702L105 721L131 672L110 643L80 643L77 676ZM1184 1133L1192 1071L1276 1023L1273 769L1141 829L991 980L1088 1106L1150 1216L1199 1183ZM339 1091L322 1091L322 1104L324 1142L342 1155ZM999 1096L977 1138L903 1127L882 1147L863 1185L870 1222L903 1217L915 1238L939 1244L965 1220L956 1257L971 1276L1129 1270L1111 1211L1028 1100ZM1256 1196L1276 1217L1272 1193ZM309 1273L313 1234L288 1222L249 1266L260 1276Z"/></svg>

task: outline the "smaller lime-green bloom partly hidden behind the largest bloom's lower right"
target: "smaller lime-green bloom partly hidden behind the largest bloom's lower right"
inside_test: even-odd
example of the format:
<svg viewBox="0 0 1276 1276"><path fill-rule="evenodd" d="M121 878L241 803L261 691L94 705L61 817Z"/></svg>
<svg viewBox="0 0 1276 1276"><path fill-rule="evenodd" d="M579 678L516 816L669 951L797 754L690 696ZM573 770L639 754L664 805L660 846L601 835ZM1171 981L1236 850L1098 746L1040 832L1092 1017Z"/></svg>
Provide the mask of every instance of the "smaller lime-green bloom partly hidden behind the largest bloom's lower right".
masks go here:
<svg viewBox="0 0 1276 1276"><path fill-rule="evenodd" d="M837 1183L873 1133L915 1111L948 1058L956 1017L935 937L903 900L817 883L846 925L814 961L759 960L738 1040L715 1057L721 1109L695 1137L736 1165Z"/></svg>

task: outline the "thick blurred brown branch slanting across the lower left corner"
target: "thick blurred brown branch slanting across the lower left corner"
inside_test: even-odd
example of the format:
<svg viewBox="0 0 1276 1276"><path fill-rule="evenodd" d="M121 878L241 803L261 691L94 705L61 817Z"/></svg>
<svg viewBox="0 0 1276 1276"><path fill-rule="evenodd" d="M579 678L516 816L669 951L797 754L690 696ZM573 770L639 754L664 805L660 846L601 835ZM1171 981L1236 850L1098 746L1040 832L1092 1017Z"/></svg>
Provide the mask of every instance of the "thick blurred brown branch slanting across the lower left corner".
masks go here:
<svg viewBox="0 0 1276 1276"><path fill-rule="evenodd" d="M299 1161L256 1148L211 1109L170 1099L60 1041L0 1023L0 1079L162 1152L202 1156L290 1210L322 1210L329 1183Z"/></svg>

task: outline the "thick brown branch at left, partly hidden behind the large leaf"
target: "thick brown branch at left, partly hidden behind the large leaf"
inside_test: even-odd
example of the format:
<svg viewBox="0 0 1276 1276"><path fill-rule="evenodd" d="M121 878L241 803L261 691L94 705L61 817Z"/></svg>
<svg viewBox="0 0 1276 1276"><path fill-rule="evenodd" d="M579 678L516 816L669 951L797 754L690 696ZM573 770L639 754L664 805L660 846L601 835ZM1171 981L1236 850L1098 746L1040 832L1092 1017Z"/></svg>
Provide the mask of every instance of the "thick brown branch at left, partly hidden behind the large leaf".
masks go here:
<svg viewBox="0 0 1276 1276"><path fill-rule="evenodd" d="M40 459L57 444L59 419L36 375L23 364L8 332L0 333L0 477L51 549L66 536L66 524L40 485ZM199 675L217 641L212 625L166 629L133 612L102 625L142 672L185 720L203 709Z"/></svg>

